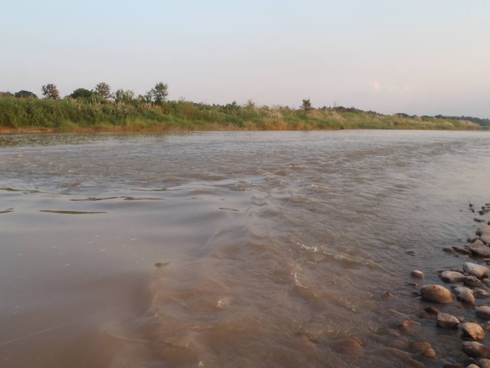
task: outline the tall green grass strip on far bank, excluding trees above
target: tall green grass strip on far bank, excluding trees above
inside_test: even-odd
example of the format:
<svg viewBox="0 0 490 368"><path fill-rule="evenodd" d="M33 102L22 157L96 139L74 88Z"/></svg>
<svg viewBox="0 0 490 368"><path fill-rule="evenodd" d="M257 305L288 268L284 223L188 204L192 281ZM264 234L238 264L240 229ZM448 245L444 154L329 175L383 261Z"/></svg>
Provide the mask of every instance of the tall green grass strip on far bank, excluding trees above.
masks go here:
<svg viewBox="0 0 490 368"><path fill-rule="evenodd" d="M205 105L171 101L155 105L0 98L0 128L4 130L339 130L339 129L478 129L455 119L401 117L367 112L318 109L304 113L291 108L252 104Z"/></svg>

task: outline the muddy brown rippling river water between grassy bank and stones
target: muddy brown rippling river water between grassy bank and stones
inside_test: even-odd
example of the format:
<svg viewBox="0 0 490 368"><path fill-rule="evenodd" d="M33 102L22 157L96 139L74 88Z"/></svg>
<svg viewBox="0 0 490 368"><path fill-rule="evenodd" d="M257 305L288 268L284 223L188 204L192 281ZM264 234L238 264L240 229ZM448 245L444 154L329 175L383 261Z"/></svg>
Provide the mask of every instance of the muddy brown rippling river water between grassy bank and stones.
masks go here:
<svg viewBox="0 0 490 368"><path fill-rule="evenodd" d="M438 269L466 260L441 248L474 233L469 202L490 202L489 138L2 136L1 367L462 362L456 332L420 320L400 338L396 325L426 306L413 268L441 283ZM364 354L339 349L345 338ZM438 359L404 339L430 341Z"/></svg>

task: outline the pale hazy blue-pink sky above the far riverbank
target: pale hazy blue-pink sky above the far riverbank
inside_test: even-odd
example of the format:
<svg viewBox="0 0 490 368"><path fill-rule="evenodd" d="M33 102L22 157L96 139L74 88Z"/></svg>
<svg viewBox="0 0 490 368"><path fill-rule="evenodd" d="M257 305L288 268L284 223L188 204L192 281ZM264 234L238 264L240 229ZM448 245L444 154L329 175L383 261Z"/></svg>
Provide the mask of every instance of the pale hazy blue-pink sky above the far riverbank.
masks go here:
<svg viewBox="0 0 490 368"><path fill-rule="evenodd" d="M0 91L490 118L490 1L2 1Z"/></svg>

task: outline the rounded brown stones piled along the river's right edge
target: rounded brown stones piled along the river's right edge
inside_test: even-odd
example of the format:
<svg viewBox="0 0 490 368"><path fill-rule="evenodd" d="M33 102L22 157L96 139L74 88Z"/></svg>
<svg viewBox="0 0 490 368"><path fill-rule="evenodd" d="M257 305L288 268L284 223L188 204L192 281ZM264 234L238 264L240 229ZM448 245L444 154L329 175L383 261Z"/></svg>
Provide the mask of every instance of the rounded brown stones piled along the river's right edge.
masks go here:
<svg viewBox="0 0 490 368"><path fill-rule="evenodd" d="M469 209L475 212L473 204L469 205ZM480 215L488 212L490 203L478 210ZM479 218L474 220L479 223L487 222ZM454 331L461 338L461 346L455 348L464 352L464 355L458 356L462 361L441 360L441 367L444 368L490 368L490 347L483 341L490 330L490 303L486 301L490 298L486 289L490 288L490 268L487 266L490 264L490 221L480 225L475 236L469 237L467 242L468 245L464 248L453 246L442 249L446 253L467 256L471 260L463 262L461 269L439 270L441 285L428 284L419 287L417 283L410 283L419 288L414 296L420 297L422 304L427 304L419 317L434 320L434 328ZM411 272L411 277L420 283L425 279L424 273L417 269ZM460 304L452 308L453 311L460 312L458 315L448 312L455 303ZM415 319L406 319L398 327L406 330L419 325L420 322ZM418 351L420 356L434 359L437 357L431 342L412 342L410 347ZM424 367L421 363L417 365L419 362L412 363L414 367Z"/></svg>

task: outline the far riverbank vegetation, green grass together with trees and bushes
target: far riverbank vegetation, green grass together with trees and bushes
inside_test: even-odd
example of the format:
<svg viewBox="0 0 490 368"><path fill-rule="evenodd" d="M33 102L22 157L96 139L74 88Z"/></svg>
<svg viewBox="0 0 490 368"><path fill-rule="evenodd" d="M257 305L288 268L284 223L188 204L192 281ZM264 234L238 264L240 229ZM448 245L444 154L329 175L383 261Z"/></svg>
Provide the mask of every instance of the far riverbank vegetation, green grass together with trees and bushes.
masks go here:
<svg viewBox="0 0 490 368"><path fill-rule="evenodd" d="M29 91L0 92L0 133L97 131L270 131L270 130L480 130L489 119L471 117L385 115L355 107L298 108L236 102L209 105L168 101L168 86L157 83L147 94L112 93L106 83L78 88L61 99L54 84L44 85L43 99ZM472 120L472 121L471 121Z"/></svg>

